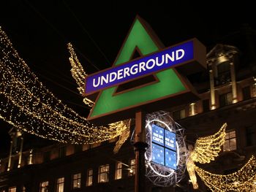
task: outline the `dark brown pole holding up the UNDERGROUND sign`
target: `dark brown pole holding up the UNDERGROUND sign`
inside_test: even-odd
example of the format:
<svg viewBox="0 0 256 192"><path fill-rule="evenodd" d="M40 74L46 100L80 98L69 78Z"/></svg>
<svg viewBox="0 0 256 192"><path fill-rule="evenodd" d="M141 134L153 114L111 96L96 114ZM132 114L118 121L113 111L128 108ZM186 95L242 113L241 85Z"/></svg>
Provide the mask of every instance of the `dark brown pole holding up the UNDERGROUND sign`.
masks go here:
<svg viewBox="0 0 256 192"><path fill-rule="evenodd" d="M147 147L145 130L145 112L135 113L135 192L145 191L145 156Z"/></svg>

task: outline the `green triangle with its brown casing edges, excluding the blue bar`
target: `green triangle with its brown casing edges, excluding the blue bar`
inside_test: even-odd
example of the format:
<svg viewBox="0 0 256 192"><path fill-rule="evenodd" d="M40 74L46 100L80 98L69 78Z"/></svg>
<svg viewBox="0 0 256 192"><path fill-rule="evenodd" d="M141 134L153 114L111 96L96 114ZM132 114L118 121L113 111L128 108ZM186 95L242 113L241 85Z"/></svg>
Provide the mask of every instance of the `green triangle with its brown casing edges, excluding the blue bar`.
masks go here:
<svg viewBox="0 0 256 192"><path fill-rule="evenodd" d="M148 55L162 48L151 28L137 16L113 66L130 61L135 50L141 55ZM111 123L134 117L136 110L154 111L163 106L180 104L178 99L189 100L185 94L191 93L189 85L176 69L165 69L154 74L154 77L156 81L128 91L116 93L118 86L100 91L88 119L97 123ZM195 99L195 94L192 95L194 97L189 97Z"/></svg>

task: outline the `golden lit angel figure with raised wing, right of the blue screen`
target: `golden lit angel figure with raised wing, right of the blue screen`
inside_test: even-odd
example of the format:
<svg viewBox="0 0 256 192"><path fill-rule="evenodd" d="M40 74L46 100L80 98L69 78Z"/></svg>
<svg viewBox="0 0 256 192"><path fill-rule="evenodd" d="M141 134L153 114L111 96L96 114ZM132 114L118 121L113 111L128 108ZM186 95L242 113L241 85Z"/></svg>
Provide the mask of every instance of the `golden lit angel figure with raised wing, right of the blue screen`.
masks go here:
<svg viewBox="0 0 256 192"><path fill-rule="evenodd" d="M221 147L225 142L226 127L227 123L223 124L222 128L216 134L198 138L193 150L192 145L189 145L190 154L187 159L187 172L189 173L193 188L198 188L197 177L195 175L195 162L207 164L214 161L214 158L219 155L219 152L222 150Z"/></svg>

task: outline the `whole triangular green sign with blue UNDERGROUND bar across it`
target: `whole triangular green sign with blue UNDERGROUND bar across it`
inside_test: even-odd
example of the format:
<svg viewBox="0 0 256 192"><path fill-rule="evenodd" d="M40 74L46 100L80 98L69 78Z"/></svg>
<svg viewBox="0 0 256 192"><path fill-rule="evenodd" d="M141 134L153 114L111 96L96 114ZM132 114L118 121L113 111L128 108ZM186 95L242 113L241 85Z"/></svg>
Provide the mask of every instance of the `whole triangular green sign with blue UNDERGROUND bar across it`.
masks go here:
<svg viewBox="0 0 256 192"><path fill-rule="evenodd" d="M132 60L136 51L140 58ZM113 123L134 118L138 110L152 112L195 101L195 88L184 76L205 68L206 47L197 39L165 48L137 16L112 68L86 77L85 95L95 101L87 119Z"/></svg>

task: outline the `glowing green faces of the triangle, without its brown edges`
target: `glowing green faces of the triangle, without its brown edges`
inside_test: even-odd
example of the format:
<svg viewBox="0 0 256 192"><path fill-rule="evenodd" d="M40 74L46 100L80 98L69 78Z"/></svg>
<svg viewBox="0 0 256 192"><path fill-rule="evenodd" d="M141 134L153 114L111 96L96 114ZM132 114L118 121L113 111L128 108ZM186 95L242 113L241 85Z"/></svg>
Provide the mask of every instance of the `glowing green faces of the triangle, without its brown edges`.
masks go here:
<svg viewBox="0 0 256 192"><path fill-rule="evenodd" d="M124 42L124 47L122 48L114 65L123 64L124 62L129 61L136 46L143 55L159 50L138 19L132 26L129 37L127 38L127 41ZM157 73L156 75L159 78L159 82L133 91L120 93L116 96L113 96L116 87L102 91L99 99L94 104L90 118L138 104L143 104L154 99L160 99L186 90L173 69L167 69L163 72Z"/></svg>

